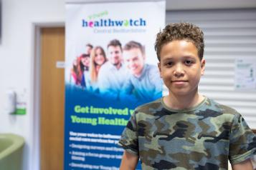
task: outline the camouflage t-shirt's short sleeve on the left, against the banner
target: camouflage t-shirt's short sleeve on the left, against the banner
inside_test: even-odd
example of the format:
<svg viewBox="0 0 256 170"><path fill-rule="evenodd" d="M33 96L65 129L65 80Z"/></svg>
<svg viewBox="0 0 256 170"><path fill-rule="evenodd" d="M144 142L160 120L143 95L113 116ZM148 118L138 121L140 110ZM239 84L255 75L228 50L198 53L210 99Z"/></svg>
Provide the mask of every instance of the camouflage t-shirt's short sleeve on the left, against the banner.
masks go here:
<svg viewBox="0 0 256 170"><path fill-rule="evenodd" d="M118 145L123 147L125 151L131 154L138 155L138 134L137 134L137 124L136 124L136 111L134 111L128 124L123 130L123 134L118 142Z"/></svg>

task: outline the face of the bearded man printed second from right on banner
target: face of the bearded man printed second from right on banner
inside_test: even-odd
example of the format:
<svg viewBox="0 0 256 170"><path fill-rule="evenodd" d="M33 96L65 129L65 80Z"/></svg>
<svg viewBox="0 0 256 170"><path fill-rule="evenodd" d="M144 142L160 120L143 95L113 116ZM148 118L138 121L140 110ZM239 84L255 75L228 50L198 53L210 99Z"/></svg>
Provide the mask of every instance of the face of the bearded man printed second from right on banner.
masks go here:
<svg viewBox="0 0 256 170"><path fill-rule="evenodd" d="M122 61L122 49L120 46L108 46L108 59L111 64L117 66Z"/></svg>

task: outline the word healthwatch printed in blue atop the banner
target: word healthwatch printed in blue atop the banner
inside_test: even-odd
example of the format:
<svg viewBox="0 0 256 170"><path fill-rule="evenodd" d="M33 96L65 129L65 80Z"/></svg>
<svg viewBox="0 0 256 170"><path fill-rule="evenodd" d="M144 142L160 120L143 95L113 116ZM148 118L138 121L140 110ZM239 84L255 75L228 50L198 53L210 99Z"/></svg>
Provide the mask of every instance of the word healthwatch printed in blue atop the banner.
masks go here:
<svg viewBox="0 0 256 170"><path fill-rule="evenodd" d="M125 20L113 20L113 19L98 19L96 21L86 21L82 19L82 27L108 27L108 26L146 26L145 19L125 19Z"/></svg>

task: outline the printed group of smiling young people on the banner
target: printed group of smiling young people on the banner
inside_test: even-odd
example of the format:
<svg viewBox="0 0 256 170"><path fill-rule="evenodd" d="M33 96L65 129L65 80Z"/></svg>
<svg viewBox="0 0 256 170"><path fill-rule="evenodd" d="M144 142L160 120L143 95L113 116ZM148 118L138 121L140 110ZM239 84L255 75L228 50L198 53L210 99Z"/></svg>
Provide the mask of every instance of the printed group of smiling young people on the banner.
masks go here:
<svg viewBox="0 0 256 170"><path fill-rule="evenodd" d="M72 64L70 83L105 99L133 103L158 99L163 91L157 66L146 63L145 46L118 39L106 46L86 44L85 54Z"/></svg>

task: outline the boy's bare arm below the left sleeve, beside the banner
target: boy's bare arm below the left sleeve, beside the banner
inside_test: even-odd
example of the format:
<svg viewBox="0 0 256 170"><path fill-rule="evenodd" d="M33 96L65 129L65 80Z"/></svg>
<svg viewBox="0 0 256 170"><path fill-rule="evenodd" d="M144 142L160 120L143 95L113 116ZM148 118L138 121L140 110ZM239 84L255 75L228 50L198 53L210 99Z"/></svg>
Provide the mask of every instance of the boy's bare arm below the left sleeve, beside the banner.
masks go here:
<svg viewBox="0 0 256 170"><path fill-rule="evenodd" d="M138 164L138 156L130 154L128 151L123 152L123 158L120 164L120 170L136 169Z"/></svg>

